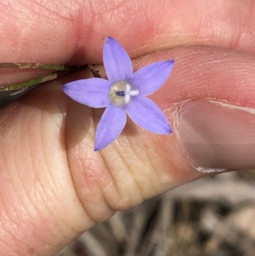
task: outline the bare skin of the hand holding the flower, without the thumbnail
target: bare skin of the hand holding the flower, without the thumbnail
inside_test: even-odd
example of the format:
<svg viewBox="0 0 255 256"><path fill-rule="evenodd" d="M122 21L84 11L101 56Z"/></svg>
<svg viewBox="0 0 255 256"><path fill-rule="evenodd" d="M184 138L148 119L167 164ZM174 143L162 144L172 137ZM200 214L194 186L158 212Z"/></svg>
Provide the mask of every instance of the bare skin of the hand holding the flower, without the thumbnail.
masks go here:
<svg viewBox="0 0 255 256"><path fill-rule="evenodd" d="M135 70L175 59L170 78L151 96L170 123L175 103L187 99L255 107L254 0L0 5L1 62L101 64L110 35L134 58ZM44 75L4 73L2 84ZM103 110L61 91L66 82L90 76L82 71L48 82L0 109L1 255L54 255L115 211L205 176L184 162L175 135L155 135L130 120L115 142L94 152Z"/></svg>

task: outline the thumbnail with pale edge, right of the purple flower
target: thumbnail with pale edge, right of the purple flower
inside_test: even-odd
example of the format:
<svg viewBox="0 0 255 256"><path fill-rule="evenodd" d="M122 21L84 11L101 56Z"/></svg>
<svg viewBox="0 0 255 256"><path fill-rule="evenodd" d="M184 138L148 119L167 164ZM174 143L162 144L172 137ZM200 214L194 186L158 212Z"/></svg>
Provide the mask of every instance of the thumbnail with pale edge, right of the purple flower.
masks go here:
<svg viewBox="0 0 255 256"><path fill-rule="evenodd" d="M177 146L200 172L255 169L255 109L211 100L177 107Z"/></svg>

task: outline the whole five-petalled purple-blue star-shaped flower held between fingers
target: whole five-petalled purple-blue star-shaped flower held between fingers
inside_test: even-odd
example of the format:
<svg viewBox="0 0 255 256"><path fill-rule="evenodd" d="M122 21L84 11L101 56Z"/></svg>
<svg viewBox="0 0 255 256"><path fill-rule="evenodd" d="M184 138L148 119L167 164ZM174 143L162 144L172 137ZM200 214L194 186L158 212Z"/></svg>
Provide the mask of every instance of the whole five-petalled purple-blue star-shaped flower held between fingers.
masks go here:
<svg viewBox="0 0 255 256"><path fill-rule="evenodd" d="M159 61L133 73L127 52L108 36L103 47L108 80L92 78L63 86L64 93L76 102L93 108L106 107L96 130L95 151L108 146L120 135L126 125L126 114L150 132L171 133L170 124L161 109L145 96L163 86L173 69L173 62Z"/></svg>

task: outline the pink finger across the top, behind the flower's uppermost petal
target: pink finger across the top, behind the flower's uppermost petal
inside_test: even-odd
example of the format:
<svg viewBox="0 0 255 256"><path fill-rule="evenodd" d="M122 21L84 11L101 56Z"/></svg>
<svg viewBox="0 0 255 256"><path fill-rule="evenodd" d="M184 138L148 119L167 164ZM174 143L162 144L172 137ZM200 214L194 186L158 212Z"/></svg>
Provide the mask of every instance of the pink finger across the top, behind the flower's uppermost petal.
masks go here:
<svg viewBox="0 0 255 256"><path fill-rule="evenodd" d="M101 63L109 35L131 57L180 45L254 52L254 6L254 0L5 0L1 61Z"/></svg>

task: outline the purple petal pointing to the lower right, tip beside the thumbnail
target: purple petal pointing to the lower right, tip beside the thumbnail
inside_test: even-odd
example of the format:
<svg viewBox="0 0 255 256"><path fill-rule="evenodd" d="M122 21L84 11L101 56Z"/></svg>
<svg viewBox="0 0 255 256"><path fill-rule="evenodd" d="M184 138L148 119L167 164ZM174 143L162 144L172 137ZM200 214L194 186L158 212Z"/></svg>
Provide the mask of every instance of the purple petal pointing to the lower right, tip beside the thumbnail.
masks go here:
<svg viewBox="0 0 255 256"><path fill-rule="evenodd" d="M168 119L166 119L162 110L149 98L143 96L133 97L132 102L126 107L126 112L136 124L150 132L159 134L171 133Z"/></svg>

